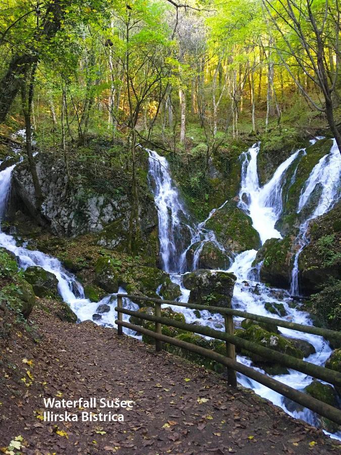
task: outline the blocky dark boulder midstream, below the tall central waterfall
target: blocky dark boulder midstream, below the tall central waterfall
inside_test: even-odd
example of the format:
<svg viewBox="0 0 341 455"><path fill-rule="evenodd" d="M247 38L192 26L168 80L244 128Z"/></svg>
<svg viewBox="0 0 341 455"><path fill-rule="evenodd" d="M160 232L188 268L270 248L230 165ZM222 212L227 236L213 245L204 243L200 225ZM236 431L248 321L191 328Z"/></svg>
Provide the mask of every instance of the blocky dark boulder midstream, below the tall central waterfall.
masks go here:
<svg viewBox="0 0 341 455"><path fill-rule="evenodd" d="M231 305L235 280L229 272L198 269L183 277L183 285L190 290L189 303L226 308Z"/></svg>

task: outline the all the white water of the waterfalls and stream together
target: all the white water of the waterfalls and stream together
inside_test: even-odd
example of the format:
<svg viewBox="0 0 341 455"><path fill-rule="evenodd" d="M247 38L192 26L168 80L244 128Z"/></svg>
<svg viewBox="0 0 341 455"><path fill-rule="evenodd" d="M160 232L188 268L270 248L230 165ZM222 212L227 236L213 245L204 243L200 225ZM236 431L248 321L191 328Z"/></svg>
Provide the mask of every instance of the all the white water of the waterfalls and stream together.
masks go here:
<svg viewBox="0 0 341 455"><path fill-rule="evenodd" d="M317 138L319 140L321 138ZM252 219L253 227L257 230L260 236L261 244L263 245L267 239L281 238L280 232L276 229L276 222L279 219L282 209L282 191L286 181L287 171L290 166L298 166L298 160L304 156L305 149L300 149L291 154L283 163L275 170L272 178L264 185L260 186L258 178L257 156L260 150L260 144L254 144L247 152L241 154L241 181L239 191L238 206L245 211ZM147 150L149 153L149 179L152 191L155 197L155 204L158 209L159 217L159 240L160 240L160 257L162 266L167 271L171 280L180 285L182 292L180 301L186 302L189 298L189 290L185 289L182 284L182 277L188 271L198 268L199 257L202 248L206 242L213 243L222 252L224 247L218 242L214 232L206 228L206 222L214 216L214 213L221 209L211 211L208 218L197 224L181 201L176 186L171 178L168 162L165 157L160 156L152 150ZM0 217L3 218L6 212L6 206L11 188L11 173L14 166L0 172ZM313 211L306 215L303 220L297 244L299 246L291 277L291 290L278 290L266 287L259 280L259 266L253 265L256 258L256 250L244 251L238 255L230 257L230 261L226 264L226 271L233 272L237 277L232 298L232 306L242 311L257 313L265 316L274 317L265 307L265 302L282 303L286 310L286 316L278 317L293 321L299 324L312 325L309 314L297 308L293 308L290 303L293 301L290 295L299 294L298 284L298 257L302 249L309 242L307 237L307 229L309 221L316 216L327 212L338 200L339 185L341 177L341 156L338 152L335 141L331 147L330 153L323 156L315 165L311 174L306 181L302 190L298 213L306 206L309 197L314 191L316 185L322 186L322 192L317 206ZM295 179L295 172L292 177ZM188 238L188 245L183 246L181 239ZM26 249L24 246L17 246L16 240L11 235L0 232L0 246L12 251L19 258L19 264L22 268L27 268L31 265L38 265L47 271L52 272L58 279L58 290L64 301L70 304L71 309L77 314L80 321L91 320L92 315L96 312L96 308L101 303L107 303L110 306L110 311L104 313L102 320L96 324L105 325L108 327L116 327L115 319L116 312L116 294L104 297L101 302L91 302L84 297L84 291L76 277L67 271L61 262L54 257L48 256L39 251ZM192 263L188 264L186 253L190 247L194 247L195 251L192 258ZM245 285L248 283L248 286ZM257 286L257 294L253 292ZM124 293L124 289L120 288L119 292ZM138 306L129 299L124 299L124 306L136 310ZM184 313L187 323L197 322L203 325L210 326L216 330L223 330L223 319L219 314L212 315L209 311L201 311L200 319L194 314L194 311L188 308L174 306L175 311ZM198 313L197 313L198 314ZM123 315L123 319L127 321L129 316ZM236 317L235 324L238 325L242 318ZM128 329L124 329L128 335L136 336L136 334ZM311 343L316 350L315 354L311 354L305 360L315 363L316 365L324 365L325 361L331 353L331 348L327 341L322 337L303 334L297 331L279 328L280 334L288 338L296 338L306 340ZM247 357L237 356L239 362L251 366L251 360ZM255 367L253 367L255 368ZM260 368L258 371L263 372ZM274 376L276 380L283 382L295 389L301 390L311 383L312 378L305 374L298 373L294 370L289 370L289 374ZM268 389L261 384L250 380L249 378L238 374L238 382L243 386L254 389L254 391L266 397L274 404L281 406L285 412L291 416L301 418L312 425L317 424L316 416L309 410L288 410L285 407L283 397L278 393ZM333 437L341 439L341 434L334 434Z"/></svg>

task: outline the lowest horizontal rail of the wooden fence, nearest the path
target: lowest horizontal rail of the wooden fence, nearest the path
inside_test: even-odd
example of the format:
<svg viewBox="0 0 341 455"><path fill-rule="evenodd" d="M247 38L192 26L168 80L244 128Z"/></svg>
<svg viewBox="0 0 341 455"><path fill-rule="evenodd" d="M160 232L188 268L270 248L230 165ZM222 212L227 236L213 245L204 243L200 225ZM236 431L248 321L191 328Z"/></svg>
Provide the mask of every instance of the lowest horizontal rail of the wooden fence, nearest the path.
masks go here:
<svg viewBox="0 0 341 455"><path fill-rule="evenodd" d="M153 332L148 329L144 329L143 327L136 326L134 324L129 324L120 320L116 320L115 323L118 327L126 327L128 329L134 330L135 332L148 335L149 337L155 338L156 340L163 341L165 343L172 344L174 346L178 346L183 349L187 349L188 351L195 352L197 354L203 355L207 358L210 358L216 362L222 363L226 367L233 369L257 382L263 384L266 387L278 392L279 394L296 401L297 403L301 404L304 407L307 407L311 411L326 417L327 419L341 425L341 411L339 411L336 407L330 406L322 401L317 400L305 393L299 392L298 390L287 386L286 384L282 384L279 381L276 381L269 376L266 376L256 370L253 370L250 367L242 365L242 363L236 362L224 355L218 354L217 352L211 351L209 349L205 349L201 346L197 346L195 344L187 343L182 340L177 340L176 338L167 337L166 335L162 335L160 333Z"/></svg>

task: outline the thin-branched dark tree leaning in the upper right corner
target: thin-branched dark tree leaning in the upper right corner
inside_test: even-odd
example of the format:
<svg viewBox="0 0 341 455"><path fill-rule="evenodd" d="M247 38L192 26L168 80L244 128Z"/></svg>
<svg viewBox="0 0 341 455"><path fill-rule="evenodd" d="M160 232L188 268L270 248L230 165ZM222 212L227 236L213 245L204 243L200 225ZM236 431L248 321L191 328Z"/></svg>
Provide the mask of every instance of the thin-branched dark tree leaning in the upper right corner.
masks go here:
<svg viewBox="0 0 341 455"><path fill-rule="evenodd" d="M276 32L273 44L283 65L306 100L325 113L341 153L341 134L333 112L332 94L339 86L340 10L338 0L262 0ZM321 90L324 103L316 101L295 74L294 60L302 72Z"/></svg>

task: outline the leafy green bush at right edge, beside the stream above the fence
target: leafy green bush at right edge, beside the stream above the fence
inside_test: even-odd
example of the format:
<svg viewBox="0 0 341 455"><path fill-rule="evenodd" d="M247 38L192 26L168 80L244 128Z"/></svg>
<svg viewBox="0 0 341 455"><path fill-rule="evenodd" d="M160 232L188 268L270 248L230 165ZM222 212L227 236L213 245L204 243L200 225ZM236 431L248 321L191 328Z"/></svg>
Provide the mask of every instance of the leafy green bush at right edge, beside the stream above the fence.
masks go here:
<svg viewBox="0 0 341 455"><path fill-rule="evenodd" d="M341 327L341 280L329 278L321 291L310 296L312 312L331 330Z"/></svg>

